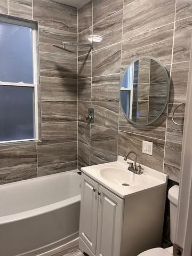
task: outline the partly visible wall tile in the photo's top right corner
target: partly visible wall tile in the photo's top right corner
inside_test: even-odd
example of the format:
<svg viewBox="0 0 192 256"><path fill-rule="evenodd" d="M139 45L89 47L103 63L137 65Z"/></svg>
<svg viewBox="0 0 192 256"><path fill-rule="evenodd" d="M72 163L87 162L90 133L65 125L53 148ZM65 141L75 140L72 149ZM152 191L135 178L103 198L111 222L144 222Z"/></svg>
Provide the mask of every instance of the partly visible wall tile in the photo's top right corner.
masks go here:
<svg viewBox="0 0 192 256"><path fill-rule="evenodd" d="M192 16L191 0L177 0L176 2L176 20L181 20Z"/></svg>

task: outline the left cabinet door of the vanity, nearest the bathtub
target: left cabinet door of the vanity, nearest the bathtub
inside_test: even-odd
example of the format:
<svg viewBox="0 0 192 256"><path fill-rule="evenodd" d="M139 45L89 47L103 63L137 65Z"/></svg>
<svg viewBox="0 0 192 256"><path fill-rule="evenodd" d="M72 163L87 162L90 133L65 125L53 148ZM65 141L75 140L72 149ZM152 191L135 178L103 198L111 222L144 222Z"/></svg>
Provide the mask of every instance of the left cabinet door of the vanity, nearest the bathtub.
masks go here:
<svg viewBox="0 0 192 256"><path fill-rule="evenodd" d="M79 235L95 254L98 223L99 184L82 173Z"/></svg>

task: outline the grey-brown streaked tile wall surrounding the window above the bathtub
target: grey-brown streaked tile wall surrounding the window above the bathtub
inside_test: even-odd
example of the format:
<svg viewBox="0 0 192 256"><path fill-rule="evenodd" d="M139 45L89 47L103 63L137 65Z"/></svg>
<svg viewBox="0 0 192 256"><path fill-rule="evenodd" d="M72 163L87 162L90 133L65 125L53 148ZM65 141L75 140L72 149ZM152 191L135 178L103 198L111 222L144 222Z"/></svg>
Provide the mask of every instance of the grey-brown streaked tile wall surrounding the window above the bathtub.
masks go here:
<svg viewBox="0 0 192 256"><path fill-rule="evenodd" d="M39 22L42 143L0 146L0 185L77 168L77 9L51 0L1 0L0 13ZM7 4L9 3L9 4ZM58 47L59 46L59 47Z"/></svg>

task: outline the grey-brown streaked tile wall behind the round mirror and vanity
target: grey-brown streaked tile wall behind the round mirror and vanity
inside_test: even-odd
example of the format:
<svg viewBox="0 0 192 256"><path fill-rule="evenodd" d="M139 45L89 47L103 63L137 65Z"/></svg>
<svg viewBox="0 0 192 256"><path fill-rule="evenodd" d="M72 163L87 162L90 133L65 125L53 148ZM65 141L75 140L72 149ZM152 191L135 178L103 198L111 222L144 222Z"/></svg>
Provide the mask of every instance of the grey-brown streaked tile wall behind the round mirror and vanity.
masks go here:
<svg viewBox="0 0 192 256"><path fill-rule="evenodd" d="M192 34L191 0L91 0L78 10L79 42L103 37L93 51L78 49L78 167L115 161L129 150L138 161L179 181L182 125L171 113L186 101ZM119 82L136 58L150 55L171 75L169 104L146 127L127 122L119 104ZM85 119L94 107L94 124ZM185 107L175 113L183 123ZM154 143L153 156L142 154L142 140Z"/></svg>

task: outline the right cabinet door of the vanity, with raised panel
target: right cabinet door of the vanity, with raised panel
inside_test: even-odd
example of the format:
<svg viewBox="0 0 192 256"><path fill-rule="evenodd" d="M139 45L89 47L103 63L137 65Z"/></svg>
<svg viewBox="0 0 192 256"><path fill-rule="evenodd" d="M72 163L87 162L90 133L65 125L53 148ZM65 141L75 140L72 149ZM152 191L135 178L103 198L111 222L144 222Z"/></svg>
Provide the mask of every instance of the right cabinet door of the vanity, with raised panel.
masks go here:
<svg viewBox="0 0 192 256"><path fill-rule="evenodd" d="M123 199L99 186L97 256L120 256Z"/></svg>

